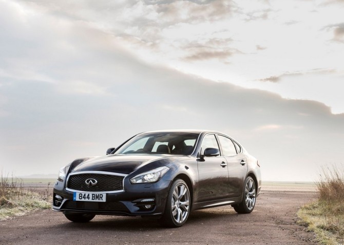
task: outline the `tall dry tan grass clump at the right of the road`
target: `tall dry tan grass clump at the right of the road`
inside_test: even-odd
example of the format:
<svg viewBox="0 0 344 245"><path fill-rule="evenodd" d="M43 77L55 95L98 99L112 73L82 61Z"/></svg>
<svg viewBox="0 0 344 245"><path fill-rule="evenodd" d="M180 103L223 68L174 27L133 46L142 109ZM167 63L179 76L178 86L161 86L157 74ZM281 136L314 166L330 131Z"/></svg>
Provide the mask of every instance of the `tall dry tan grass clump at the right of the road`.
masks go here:
<svg viewBox="0 0 344 245"><path fill-rule="evenodd" d="M318 200L299 210L300 223L308 225L323 244L344 244L343 167L322 168L316 186Z"/></svg>

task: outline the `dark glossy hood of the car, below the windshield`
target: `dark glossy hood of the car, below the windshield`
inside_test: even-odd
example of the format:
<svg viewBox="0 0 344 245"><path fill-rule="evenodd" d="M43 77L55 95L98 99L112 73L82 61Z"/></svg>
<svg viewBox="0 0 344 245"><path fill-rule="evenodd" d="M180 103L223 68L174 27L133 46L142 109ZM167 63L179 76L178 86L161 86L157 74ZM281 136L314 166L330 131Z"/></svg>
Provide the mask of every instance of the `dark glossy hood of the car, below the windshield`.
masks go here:
<svg viewBox="0 0 344 245"><path fill-rule="evenodd" d="M70 172L80 171L106 171L129 174L144 165L157 161L172 158L166 154L119 154L87 158L79 165L72 167Z"/></svg>

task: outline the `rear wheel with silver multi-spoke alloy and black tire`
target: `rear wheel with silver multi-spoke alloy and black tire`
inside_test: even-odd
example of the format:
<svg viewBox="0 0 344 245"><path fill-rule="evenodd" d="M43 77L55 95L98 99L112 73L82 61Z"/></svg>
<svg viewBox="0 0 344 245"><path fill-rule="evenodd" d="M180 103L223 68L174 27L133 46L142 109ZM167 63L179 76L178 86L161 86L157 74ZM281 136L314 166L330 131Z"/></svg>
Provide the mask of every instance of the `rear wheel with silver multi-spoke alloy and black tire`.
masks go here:
<svg viewBox="0 0 344 245"><path fill-rule="evenodd" d="M257 189L254 180L247 177L244 182L242 201L239 204L232 205L239 214L250 214L256 204Z"/></svg>

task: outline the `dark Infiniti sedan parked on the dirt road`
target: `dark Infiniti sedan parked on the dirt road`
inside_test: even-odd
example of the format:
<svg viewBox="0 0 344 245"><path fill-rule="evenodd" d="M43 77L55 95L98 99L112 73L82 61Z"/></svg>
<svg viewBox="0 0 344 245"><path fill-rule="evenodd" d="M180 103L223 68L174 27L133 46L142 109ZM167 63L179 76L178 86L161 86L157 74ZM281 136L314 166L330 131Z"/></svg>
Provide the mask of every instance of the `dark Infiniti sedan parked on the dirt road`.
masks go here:
<svg viewBox="0 0 344 245"><path fill-rule="evenodd" d="M260 166L233 138L209 130L139 133L106 155L60 169L53 210L73 222L95 215L142 216L182 226L196 209L232 205L253 211Z"/></svg>

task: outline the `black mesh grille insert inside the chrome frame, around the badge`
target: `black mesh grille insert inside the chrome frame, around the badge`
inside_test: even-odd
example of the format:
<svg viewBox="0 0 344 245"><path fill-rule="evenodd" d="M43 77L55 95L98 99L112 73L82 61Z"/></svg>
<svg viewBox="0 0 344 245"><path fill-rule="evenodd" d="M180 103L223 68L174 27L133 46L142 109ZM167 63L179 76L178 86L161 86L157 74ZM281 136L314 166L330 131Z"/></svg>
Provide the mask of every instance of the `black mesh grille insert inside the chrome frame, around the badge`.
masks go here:
<svg viewBox="0 0 344 245"><path fill-rule="evenodd" d="M94 186L87 186L87 179L97 180ZM68 179L67 188L80 191L116 191L123 190L123 176L102 173L80 173L71 175Z"/></svg>

